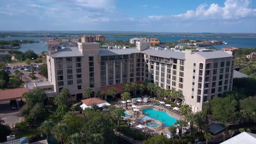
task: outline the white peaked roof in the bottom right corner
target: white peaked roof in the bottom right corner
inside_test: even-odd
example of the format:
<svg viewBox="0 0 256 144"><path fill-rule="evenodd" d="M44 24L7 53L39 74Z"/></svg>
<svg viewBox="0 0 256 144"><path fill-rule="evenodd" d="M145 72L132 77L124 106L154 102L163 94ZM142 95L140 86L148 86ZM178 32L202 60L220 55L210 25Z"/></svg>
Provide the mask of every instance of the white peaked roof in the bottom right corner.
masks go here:
<svg viewBox="0 0 256 144"><path fill-rule="evenodd" d="M236 143L237 144L238 143L247 143L247 144L256 143L256 134L243 132L222 142L222 144L236 144Z"/></svg>

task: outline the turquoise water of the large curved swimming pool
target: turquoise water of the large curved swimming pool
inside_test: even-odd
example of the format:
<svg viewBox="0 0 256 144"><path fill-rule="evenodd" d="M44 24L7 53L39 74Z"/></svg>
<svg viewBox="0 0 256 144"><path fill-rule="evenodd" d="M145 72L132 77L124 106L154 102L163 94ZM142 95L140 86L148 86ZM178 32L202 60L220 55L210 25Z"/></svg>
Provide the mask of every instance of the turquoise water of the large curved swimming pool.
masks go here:
<svg viewBox="0 0 256 144"><path fill-rule="evenodd" d="M176 118L169 116L166 112L163 111L143 109L142 112L147 113L147 115L145 114L146 116L141 118L141 122L143 122L144 119L156 119L162 123L163 127L170 127L177 121Z"/></svg>

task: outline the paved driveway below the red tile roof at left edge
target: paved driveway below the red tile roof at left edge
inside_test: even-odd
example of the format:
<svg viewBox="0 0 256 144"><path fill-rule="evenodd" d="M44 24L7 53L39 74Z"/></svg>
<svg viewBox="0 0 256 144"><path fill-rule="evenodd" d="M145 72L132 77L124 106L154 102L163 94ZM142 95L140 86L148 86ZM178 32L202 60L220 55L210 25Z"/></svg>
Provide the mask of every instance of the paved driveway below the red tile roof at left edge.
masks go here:
<svg viewBox="0 0 256 144"><path fill-rule="evenodd" d="M5 124L8 124L10 128L13 128L13 125L20 122L20 109L10 110L9 103L10 101L0 102L0 118L3 119Z"/></svg>

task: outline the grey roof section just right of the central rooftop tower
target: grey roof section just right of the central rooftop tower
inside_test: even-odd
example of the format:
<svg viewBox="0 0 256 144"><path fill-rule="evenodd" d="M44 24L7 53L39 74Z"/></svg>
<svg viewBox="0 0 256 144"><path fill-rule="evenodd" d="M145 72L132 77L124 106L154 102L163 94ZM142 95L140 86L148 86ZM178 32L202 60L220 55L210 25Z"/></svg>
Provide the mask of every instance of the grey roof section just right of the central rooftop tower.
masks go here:
<svg viewBox="0 0 256 144"><path fill-rule="evenodd" d="M142 51L142 53L146 53L147 55L156 56L156 57L185 59L184 52L173 52L173 51L147 49L147 50Z"/></svg>

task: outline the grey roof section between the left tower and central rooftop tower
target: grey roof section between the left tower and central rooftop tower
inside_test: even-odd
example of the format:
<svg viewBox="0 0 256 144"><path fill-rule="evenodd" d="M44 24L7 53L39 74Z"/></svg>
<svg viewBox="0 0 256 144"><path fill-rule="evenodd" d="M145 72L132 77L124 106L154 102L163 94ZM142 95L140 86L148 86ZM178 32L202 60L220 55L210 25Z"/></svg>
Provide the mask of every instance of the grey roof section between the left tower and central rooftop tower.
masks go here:
<svg viewBox="0 0 256 144"><path fill-rule="evenodd" d="M117 55L130 55L131 53L140 53L136 48L127 48L127 49L112 49L104 50L100 49L100 56L117 56Z"/></svg>

